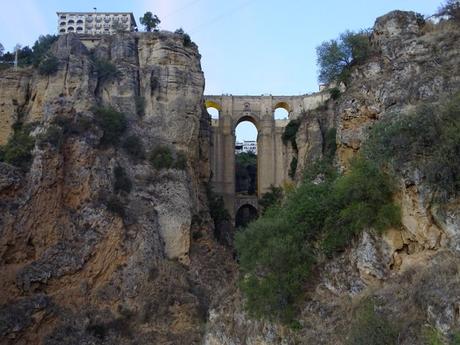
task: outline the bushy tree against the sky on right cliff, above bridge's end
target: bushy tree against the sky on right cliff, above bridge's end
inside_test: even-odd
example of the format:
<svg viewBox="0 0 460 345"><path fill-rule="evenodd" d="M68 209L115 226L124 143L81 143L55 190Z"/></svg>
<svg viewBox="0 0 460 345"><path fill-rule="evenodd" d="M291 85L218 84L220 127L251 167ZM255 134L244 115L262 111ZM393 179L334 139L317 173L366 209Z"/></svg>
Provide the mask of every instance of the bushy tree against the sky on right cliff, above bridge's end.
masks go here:
<svg viewBox="0 0 460 345"><path fill-rule="evenodd" d="M363 63L371 53L369 33L345 31L338 39L323 42L316 48L320 83L347 84L353 65Z"/></svg>

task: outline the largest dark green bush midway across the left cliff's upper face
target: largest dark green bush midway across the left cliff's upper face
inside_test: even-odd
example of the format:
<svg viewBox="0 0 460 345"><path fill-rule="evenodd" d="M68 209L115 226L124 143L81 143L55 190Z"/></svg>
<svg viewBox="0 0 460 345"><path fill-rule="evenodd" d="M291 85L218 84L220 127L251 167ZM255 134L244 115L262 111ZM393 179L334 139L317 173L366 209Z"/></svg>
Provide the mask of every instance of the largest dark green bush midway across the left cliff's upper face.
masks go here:
<svg viewBox="0 0 460 345"><path fill-rule="evenodd" d="M102 146L118 145L127 128L126 117L113 108L98 107L93 110L100 128L104 131Z"/></svg>

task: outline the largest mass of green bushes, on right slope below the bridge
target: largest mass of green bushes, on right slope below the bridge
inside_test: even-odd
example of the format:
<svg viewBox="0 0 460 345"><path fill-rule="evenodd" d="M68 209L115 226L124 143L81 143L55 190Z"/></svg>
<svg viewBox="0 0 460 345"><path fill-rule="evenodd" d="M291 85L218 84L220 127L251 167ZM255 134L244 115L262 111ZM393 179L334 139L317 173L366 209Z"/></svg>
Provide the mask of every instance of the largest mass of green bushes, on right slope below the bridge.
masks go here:
<svg viewBox="0 0 460 345"><path fill-rule="evenodd" d="M325 165L313 165L281 206L237 234L241 288L256 318L289 322L319 256L344 250L365 229L399 224L391 181L374 164L357 159L343 176Z"/></svg>

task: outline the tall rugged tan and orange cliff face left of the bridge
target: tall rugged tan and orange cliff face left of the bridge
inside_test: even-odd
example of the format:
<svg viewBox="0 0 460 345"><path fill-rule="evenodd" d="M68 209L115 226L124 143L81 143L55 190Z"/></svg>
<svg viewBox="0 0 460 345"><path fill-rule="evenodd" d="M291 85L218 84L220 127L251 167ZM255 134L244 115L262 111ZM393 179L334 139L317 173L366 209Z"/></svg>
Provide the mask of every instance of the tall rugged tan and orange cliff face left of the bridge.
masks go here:
<svg viewBox="0 0 460 345"><path fill-rule="evenodd" d="M52 52L54 75L0 74L0 144L17 122L33 123L36 138L28 172L0 163L0 343L200 343L233 268L209 232L196 46L161 32L104 37L89 50L69 34ZM105 78L98 61L116 75ZM101 145L96 106L125 114L121 141L168 147L186 166L155 169ZM63 133L58 144L41 139L50 128Z"/></svg>

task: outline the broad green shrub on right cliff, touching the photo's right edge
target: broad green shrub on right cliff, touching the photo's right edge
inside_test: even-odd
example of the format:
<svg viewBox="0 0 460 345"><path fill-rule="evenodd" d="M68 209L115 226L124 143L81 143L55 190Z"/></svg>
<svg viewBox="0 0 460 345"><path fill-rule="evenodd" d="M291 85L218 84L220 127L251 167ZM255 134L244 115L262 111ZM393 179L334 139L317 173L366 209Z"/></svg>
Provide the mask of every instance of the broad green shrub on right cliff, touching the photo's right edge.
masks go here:
<svg viewBox="0 0 460 345"><path fill-rule="evenodd" d="M443 105L425 104L377 123L363 146L366 157L400 174L411 165L438 201L460 192L460 93Z"/></svg>

